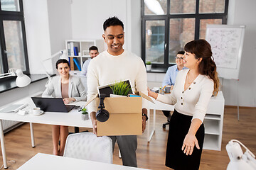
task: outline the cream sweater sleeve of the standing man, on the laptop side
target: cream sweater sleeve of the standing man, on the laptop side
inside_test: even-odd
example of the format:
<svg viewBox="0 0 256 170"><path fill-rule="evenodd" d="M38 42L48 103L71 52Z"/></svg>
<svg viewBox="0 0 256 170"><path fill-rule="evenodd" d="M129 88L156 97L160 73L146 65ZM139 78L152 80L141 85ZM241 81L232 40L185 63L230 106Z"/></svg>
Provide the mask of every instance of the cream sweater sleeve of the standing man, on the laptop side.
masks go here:
<svg viewBox="0 0 256 170"><path fill-rule="evenodd" d="M97 86L99 86L99 78L97 74L97 67L95 62L92 60L87 70L87 101L97 94ZM88 106L89 113L96 112L97 106L96 101L93 100Z"/></svg>

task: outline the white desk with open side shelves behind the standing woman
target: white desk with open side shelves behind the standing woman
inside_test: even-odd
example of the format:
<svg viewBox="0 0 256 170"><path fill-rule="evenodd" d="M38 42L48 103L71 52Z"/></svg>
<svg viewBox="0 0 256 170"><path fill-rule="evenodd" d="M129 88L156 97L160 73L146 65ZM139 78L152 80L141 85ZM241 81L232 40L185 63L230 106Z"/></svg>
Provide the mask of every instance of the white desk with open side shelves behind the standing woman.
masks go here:
<svg viewBox="0 0 256 170"><path fill-rule="evenodd" d="M154 100L154 99L153 99ZM161 111L174 111L174 106L161 103L154 100L154 103L149 102L148 115L150 117L150 109L154 110L153 118L153 130L150 133L150 118L147 121L147 138L150 142L152 136L154 135L156 129L156 110ZM204 122L205 125L205 140L203 144L203 149L221 149L222 133L223 133L223 115L224 115L224 104L225 100L222 91L219 91L218 96L213 96L210 98L208 105L208 110L206 111L206 117Z"/></svg>

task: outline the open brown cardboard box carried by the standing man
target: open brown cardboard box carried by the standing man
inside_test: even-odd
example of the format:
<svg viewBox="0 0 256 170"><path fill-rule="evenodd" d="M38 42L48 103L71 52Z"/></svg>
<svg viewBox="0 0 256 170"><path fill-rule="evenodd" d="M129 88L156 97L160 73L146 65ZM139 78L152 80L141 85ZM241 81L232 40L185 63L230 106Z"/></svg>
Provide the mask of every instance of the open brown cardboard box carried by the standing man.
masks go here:
<svg viewBox="0 0 256 170"><path fill-rule="evenodd" d="M97 121L97 136L116 135L142 135L142 97L154 101L145 94L139 93L141 97L106 97L104 100L105 109L110 113L110 118L102 123ZM100 98L96 100L99 106Z"/></svg>

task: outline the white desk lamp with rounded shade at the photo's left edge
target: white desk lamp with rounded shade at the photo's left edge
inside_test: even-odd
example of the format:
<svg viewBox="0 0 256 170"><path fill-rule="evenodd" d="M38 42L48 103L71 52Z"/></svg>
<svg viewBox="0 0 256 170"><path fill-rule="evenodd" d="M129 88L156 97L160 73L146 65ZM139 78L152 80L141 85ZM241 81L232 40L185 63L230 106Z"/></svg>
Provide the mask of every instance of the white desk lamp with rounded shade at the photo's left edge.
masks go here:
<svg viewBox="0 0 256 170"><path fill-rule="evenodd" d="M16 85L18 87L28 86L31 83L31 78L23 74L21 69L9 69L8 73L0 74L0 79L12 76L17 76Z"/></svg>

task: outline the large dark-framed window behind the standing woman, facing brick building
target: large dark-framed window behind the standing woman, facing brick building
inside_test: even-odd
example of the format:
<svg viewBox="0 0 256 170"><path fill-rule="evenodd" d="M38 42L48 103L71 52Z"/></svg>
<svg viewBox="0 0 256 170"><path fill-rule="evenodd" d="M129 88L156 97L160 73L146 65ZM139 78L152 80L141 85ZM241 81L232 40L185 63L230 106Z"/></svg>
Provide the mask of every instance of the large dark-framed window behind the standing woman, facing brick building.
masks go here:
<svg viewBox="0 0 256 170"><path fill-rule="evenodd" d="M166 71L191 40L205 38L207 24L225 24L228 0L142 0L142 60Z"/></svg>

